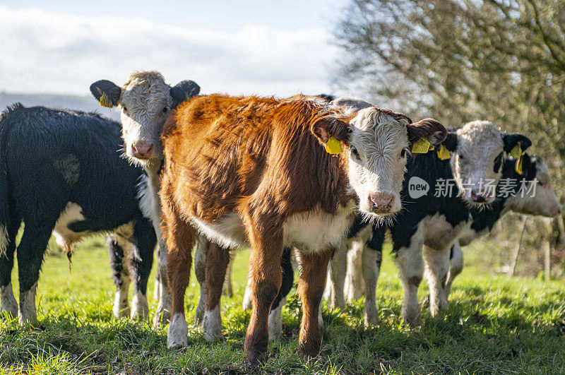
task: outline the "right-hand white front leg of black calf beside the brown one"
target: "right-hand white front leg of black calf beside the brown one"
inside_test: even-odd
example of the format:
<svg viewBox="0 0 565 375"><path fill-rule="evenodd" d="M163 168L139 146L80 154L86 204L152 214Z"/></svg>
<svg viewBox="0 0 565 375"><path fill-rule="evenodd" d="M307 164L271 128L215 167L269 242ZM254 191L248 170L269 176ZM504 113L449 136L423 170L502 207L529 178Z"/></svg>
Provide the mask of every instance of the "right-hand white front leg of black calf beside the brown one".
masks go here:
<svg viewBox="0 0 565 375"><path fill-rule="evenodd" d="M432 316L441 316L447 308L445 283L449 270L450 247L442 250L424 245L424 261L429 284L429 310Z"/></svg>

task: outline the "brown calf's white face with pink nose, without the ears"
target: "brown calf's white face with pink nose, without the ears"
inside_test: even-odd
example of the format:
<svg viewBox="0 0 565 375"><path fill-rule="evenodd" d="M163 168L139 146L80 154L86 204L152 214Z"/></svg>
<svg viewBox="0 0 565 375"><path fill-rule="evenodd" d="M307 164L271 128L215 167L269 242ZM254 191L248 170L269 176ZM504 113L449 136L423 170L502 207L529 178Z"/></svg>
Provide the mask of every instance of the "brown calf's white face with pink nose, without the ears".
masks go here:
<svg viewBox="0 0 565 375"><path fill-rule="evenodd" d="M349 181L359 196L359 209L372 216L400 210L408 121L373 107L360 110L350 125ZM386 204L389 198L388 212L376 209L375 201Z"/></svg>

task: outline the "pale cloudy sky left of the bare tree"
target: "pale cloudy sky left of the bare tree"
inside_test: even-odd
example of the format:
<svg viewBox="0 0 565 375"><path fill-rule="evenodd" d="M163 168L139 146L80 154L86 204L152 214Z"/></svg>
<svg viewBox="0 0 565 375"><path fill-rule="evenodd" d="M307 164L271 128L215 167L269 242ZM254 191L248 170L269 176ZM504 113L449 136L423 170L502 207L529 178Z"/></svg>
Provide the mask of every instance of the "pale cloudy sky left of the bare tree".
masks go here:
<svg viewBox="0 0 565 375"><path fill-rule="evenodd" d="M202 93L335 93L347 2L0 0L0 91L89 95L154 69Z"/></svg>

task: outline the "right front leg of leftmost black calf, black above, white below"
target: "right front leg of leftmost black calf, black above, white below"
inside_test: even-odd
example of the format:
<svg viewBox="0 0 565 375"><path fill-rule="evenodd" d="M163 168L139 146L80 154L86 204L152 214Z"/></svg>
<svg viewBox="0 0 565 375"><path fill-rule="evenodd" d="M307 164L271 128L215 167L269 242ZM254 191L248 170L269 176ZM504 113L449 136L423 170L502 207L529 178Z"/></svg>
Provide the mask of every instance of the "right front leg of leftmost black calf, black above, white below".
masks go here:
<svg viewBox="0 0 565 375"><path fill-rule="evenodd" d="M147 282L153 266L153 251L157 237L147 219L133 225L133 251L131 252L131 275L133 276L133 301L131 319L145 320L149 316Z"/></svg>

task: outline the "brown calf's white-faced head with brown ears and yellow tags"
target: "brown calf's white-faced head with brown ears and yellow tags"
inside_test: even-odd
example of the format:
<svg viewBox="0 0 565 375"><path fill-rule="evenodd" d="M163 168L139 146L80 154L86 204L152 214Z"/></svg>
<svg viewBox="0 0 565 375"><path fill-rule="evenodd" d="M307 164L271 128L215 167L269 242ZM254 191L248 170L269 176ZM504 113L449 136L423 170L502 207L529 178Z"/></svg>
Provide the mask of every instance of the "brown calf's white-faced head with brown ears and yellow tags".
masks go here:
<svg viewBox="0 0 565 375"><path fill-rule="evenodd" d="M369 219L384 218L401 208L400 189L412 143L424 138L437 145L447 131L434 119L412 124L403 114L376 107L352 116L348 115L347 123L338 112L316 121L311 130L323 145L331 137L340 141L342 165L347 168L350 189L359 197L359 210Z"/></svg>

